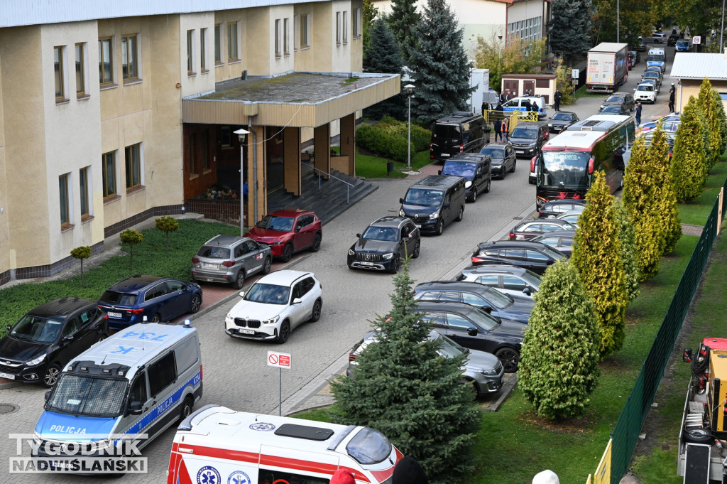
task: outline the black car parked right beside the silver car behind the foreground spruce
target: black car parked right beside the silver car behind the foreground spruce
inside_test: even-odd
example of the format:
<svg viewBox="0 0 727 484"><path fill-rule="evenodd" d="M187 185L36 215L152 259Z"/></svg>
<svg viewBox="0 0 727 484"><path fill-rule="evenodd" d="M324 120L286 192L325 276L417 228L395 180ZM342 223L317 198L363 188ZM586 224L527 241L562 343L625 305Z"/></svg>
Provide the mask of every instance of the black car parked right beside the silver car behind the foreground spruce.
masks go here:
<svg viewBox="0 0 727 484"><path fill-rule="evenodd" d="M433 322L437 333L455 343L494 354L505 366L505 373L518 370L527 325L499 320L475 306L454 301L419 301L414 311L421 312L423 320Z"/></svg>

